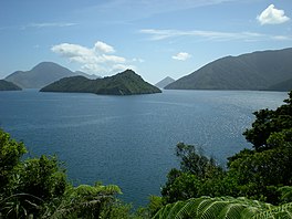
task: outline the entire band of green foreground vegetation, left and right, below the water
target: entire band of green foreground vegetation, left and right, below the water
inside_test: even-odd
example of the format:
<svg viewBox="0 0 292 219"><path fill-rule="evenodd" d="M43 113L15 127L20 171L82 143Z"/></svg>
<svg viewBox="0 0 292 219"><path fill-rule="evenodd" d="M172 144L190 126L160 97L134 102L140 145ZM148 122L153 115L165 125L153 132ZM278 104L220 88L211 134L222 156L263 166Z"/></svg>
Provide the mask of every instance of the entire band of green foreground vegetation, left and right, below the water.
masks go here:
<svg viewBox="0 0 292 219"><path fill-rule="evenodd" d="M22 159L22 143L0 131L0 218L292 218L292 92L274 111L254 113L252 143L220 167L200 148L179 143L161 197L132 212L117 186L66 179L55 156Z"/></svg>

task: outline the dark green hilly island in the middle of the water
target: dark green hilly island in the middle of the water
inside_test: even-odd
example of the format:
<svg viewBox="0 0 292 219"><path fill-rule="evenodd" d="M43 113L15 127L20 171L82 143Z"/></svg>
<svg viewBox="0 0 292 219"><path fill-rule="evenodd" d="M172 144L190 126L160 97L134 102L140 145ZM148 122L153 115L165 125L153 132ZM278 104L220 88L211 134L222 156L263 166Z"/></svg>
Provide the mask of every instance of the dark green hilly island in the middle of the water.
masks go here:
<svg viewBox="0 0 292 219"><path fill-rule="evenodd" d="M65 77L41 88L41 92L77 92L108 95L161 93L159 88L145 82L132 70L96 80L88 80L84 76Z"/></svg>

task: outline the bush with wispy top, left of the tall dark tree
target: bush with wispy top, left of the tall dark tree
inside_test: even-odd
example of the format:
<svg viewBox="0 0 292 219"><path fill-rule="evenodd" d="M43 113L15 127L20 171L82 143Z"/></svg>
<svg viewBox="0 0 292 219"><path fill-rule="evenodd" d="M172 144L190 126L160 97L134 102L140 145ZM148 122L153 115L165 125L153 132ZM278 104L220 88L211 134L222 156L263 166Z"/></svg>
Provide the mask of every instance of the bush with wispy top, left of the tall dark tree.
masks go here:
<svg viewBox="0 0 292 219"><path fill-rule="evenodd" d="M225 176L223 169L215 159L202 155L195 146L179 143L176 155L180 158L180 169L171 169L161 189L165 202L186 200L205 195L217 196L217 187Z"/></svg>

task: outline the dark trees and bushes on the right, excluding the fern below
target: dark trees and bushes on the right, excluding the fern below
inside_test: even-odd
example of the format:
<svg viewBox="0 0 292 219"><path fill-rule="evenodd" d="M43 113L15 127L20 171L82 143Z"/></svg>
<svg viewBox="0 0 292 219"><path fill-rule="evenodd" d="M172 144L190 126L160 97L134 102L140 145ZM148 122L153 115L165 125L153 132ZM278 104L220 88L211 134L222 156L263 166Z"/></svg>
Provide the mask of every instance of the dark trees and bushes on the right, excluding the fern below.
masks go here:
<svg viewBox="0 0 292 219"><path fill-rule="evenodd" d="M292 186L292 92L274 111L255 112L252 127L244 132L252 149L228 158L227 170L191 145L179 143L179 169L171 169L161 189L165 204L200 196L244 196L274 205L288 202Z"/></svg>

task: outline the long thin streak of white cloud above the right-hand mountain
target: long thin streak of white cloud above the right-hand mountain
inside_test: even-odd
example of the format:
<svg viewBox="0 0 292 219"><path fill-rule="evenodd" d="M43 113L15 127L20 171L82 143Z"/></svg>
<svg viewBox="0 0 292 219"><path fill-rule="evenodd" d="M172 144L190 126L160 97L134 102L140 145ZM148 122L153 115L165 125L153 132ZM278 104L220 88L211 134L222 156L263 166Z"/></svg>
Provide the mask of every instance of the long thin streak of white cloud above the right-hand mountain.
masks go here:
<svg viewBox="0 0 292 219"><path fill-rule="evenodd" d="M181 31L181 30L157 30L157 29L143 29L139 31L140 33L150 35L148 40L150 41L159 41L166 40L170 38L181 38L181 36L192 36L198 40L204 41L231 41L231 40L240 40L240 41L267 41L267 40L275 40L275 35L268 35L257 32L219 32L219 31L202 31L202 30L190 30L190 31ZM277 39L280 40L279 35ZM292 40L291 35L282 35L282 39Z"/></svg>

